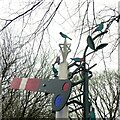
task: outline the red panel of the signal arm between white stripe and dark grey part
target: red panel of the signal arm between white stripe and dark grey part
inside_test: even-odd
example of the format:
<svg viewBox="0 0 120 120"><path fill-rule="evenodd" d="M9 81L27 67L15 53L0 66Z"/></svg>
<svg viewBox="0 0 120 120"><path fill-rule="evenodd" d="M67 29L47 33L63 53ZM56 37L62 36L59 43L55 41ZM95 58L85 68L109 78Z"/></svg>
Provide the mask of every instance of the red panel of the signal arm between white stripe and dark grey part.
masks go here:
<svg viewBox="0 0 120 120"><path fill-rule="evenodd" d="M25 90L38 91L39 85L40 85L40 79L29 78Z"/></svg>

